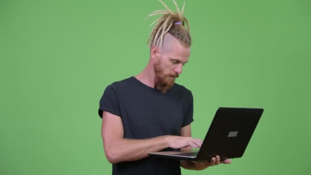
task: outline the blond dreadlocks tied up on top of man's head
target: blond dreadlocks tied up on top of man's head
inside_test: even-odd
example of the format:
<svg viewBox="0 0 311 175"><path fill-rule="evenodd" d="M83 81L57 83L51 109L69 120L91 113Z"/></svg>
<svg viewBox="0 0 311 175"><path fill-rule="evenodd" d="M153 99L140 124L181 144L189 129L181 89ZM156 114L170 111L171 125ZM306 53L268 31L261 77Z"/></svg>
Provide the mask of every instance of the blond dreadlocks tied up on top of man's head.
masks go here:
<svg viewBox="0 0 311 175"><path fill-rule="evenodd" d="M191 46L192 39L190 36L190 27L189 23L186 17L184 17L184 8L185 8L185 2L183 5L182 10L179 9L176 2L173 0L175 7L177 9L177 12L172 12L166 4L164 4L161 0L159 0L163 6L166 8L166 10L156 10L153 11L151 14L149 14L146 19L153 15L160 15L163 14L162 17L156 19L153 21L153 23L149 26L151 27L154 23L158 24L153 28L148 41L147 45L151 48L152 46L162 46L164 35L166 33L170 33L173 35L176 39L184 42L185 45ZM181 25L176 25L174 23L182 23ZM187 25L187 28L185 27L185 24Z"/></svg>

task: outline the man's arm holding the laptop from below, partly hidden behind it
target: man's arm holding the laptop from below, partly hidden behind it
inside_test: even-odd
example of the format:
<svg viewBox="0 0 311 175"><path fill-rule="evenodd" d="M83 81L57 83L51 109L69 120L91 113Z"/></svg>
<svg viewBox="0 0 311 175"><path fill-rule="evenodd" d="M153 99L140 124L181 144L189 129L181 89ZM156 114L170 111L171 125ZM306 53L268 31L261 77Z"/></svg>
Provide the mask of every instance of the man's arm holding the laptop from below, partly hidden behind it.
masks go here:
<svg viewBox="0 0 311 175"><path fill-rule="evenodd" d="M190 124L181 128L180 136L191 137ZM201 145L202 145L202 141L199 147L201 147ZM191 150L192 148L190 146L187 146L185 148L182 148L181 150L189 150L189 149ZM224 161L220 161L220 157L216 156L215 158L212 158L210 162L198 163L198 162L185 161L185 160L181 160L180 162L181 162L181 166L185 169L202 170L209 166L219 165L220 163L226 163L226 164L231 163L231 160L227 159Z"/></svg>

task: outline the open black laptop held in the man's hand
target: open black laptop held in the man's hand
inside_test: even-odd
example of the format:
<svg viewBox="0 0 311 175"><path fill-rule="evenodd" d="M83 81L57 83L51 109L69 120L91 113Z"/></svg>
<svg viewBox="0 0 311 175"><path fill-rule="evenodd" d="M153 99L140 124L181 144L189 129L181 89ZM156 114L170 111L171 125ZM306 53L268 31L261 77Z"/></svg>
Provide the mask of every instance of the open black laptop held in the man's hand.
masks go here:
<svg viewBox="0 0 311 175"><path fill-rule="evenodd" d="M219 156L220 160L240 158L262 113L263 108L219 107L201 148L150 152L149 155L196 162L210 161L215 156Z"/></svg>

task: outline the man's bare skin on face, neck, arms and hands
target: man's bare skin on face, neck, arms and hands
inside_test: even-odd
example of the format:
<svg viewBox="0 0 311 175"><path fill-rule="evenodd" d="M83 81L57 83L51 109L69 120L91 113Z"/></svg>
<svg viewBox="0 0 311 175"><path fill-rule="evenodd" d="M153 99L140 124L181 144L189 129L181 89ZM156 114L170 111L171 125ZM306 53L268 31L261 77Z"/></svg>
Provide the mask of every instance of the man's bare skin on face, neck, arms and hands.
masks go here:
<svg viewBox="0 0 311 175"><path fill-rule="evenodd" d="M162 78L174 82L175 78L182 73L183 65L188 62L189 55L190 47L167 33L161 48L157 46L150 48L150 58L146 68L135 77L151 88L157 88L159 75L154 71L154 64L158 64ZM180 136L160 136L143 140L124 139L121 117L105 111L102 116L101 134L105 155L110 163L140 160L148 157L149 152L160 151L167 147L186 150L202 145L201 139L191 138L190 124L181 128ZM186 169L201 170L220 163L228 164L231 160L220 161L219 156L216 156L210 162L204 163L181 161L181 166Z"/></svg>

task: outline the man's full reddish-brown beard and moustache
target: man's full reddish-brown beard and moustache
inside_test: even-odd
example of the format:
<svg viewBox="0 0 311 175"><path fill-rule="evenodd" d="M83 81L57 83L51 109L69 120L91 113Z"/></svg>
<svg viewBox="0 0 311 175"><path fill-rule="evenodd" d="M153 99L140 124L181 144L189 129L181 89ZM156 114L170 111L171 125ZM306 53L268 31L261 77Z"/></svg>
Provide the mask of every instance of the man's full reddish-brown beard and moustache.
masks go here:
<svg viewBox="0 0 311 175"><path fill-rule="evenodd" d="M179 75L177 73L165 74L160 59L153 64L153 68L157 78L155 88L164 94L167 90L172 88L175 83L175 78L178 78Z"/></svg>

